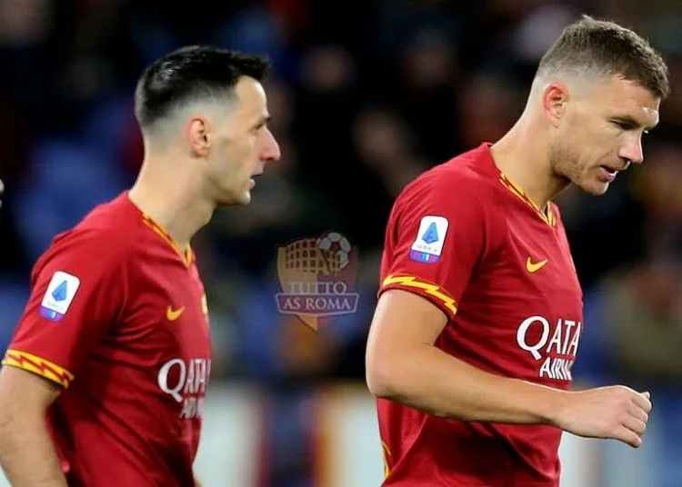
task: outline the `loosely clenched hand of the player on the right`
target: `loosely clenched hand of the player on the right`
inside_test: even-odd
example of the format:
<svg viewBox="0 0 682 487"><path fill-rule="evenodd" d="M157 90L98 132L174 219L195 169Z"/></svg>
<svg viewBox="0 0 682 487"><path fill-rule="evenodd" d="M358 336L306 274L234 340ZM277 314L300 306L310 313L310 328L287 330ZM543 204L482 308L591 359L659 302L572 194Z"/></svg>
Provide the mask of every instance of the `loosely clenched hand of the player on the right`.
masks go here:
<svg viewBox="0 0 682 487"><path fill-rule="evenodd" d="M618 440L634 448L642 445L651 403L649 393L614 385L568 393L557 412L557 426L586 438Z"/></svg>

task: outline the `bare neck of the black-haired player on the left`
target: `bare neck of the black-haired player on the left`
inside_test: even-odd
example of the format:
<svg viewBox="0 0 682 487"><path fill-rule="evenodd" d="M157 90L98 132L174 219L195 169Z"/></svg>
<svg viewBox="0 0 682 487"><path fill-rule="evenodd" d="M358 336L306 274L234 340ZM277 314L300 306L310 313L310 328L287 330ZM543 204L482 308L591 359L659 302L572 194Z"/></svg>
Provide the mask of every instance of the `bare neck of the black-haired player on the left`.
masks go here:
<svg viewBox="0 0 682 487"><path fill-rule="evenodd" d="M199 185L188 174L174 172L171 164L164 163L145 159L128 196L180 248L185 248L210 221L216 206L202 197Z"/></svg>

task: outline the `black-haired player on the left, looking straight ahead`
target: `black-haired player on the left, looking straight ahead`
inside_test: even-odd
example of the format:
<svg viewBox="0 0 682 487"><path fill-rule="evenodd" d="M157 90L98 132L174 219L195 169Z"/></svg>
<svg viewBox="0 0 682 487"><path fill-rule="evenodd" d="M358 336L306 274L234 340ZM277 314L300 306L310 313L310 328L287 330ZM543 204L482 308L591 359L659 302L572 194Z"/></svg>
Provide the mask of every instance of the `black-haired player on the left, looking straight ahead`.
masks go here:
<svg viewBox="0 0 682 487"><path fill-rule="evenodd" d="M279 158L267 70L190 46L140 77L139 177L35 263L5 353L0 463L13 485L195 484L211 343L189 243L216 207L248 204Z"/></svg>

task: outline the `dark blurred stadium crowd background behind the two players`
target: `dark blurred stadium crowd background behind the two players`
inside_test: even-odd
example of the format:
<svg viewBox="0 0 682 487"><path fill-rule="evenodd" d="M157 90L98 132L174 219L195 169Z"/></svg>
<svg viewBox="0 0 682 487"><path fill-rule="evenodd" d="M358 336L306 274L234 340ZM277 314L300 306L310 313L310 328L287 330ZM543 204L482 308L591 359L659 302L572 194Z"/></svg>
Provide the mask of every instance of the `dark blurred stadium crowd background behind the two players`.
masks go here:
<svg viewBox="0 0 682 487"><path fill-rule="evenodd" d="M386 216L426 168L514 122L538 56L578 12L637 27L673 95L644 167L559 198L581 281L580 385L653 392L642 450L567 437L567 486L682 485L682 25L679 2L346 2L227 6L0 0L0 348L51 238L135 178L135 77L180 45L268 55L283 160L254 203L196 237L216 359L197 471L206 487L369 487L382 466L363 387ZM334 229L356 245L358 311L313 333L277 313L276 246ZM491 465L495 468L495 465Z"/></svg>

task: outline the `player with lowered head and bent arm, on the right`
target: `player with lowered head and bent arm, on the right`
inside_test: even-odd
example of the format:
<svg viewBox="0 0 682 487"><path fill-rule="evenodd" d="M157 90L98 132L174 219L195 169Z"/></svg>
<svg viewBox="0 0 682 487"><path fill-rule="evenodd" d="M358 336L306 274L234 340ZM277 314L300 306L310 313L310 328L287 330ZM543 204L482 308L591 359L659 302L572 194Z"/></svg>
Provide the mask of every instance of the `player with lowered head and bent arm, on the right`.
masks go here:
<svg viewBox="0 0 682 487"><path fill-rule="evenodd" d="M398 196L366 349L385 486L556 487L562 430L641 444L648 393L569 391L583 296L551 200L568 184L603 194L641 164L667 93L645 40L585 16L501 140Z"/></svg>

